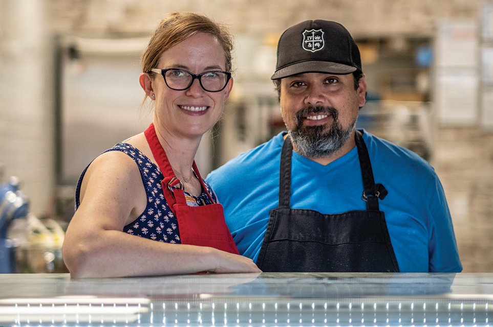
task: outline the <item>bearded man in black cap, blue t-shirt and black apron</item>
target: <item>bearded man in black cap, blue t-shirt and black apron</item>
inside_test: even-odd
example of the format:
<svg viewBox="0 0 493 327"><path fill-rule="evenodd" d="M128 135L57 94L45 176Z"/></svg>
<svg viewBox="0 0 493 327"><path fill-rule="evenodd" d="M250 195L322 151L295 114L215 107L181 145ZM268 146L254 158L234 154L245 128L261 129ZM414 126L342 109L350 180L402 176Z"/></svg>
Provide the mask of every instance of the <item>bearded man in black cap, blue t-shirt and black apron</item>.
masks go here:
<svg viewBox="0 0 493 327"><path fill-rule="evenodd" d="M240 253L263 271L461 271L434 169L355 129L367 86L350 33L292 26L271 79L288 133L207 178Z"/></svg>

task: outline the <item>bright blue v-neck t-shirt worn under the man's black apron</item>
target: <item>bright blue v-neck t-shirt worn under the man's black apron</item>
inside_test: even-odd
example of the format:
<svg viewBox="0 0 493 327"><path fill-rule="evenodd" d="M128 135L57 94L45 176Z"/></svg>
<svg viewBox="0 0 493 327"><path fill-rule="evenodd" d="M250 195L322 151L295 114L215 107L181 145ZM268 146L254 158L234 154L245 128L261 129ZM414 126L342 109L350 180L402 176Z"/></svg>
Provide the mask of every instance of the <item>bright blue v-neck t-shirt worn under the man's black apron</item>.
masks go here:
<svg viewBox="0 0 493 327"><path fill-rule="evenodd" d="M256 261L269 211L278 206L279 166L285 132L212 171L206 178L224 207L240 254ZM460 272L445 194L433 167L414 152L363 131L375 183L389 191L379 200L401 272ZM327 166L293 151L291 207L322 214L366 210L354 147Z"/></svg>

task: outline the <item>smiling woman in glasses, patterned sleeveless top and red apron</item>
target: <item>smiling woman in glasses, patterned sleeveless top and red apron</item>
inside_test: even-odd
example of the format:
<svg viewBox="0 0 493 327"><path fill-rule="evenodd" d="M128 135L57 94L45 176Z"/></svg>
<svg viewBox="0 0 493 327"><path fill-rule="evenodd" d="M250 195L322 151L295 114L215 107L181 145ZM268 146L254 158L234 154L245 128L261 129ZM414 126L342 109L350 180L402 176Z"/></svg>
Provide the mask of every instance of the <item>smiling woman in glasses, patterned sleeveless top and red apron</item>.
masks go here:
<svg viewBox="0 0 493 327"><path fill-rule="evenodd" d="M260 271L238 255L194 161L233 85L231 49L229 33L207 17L161 21L139 78L154 104L152 124L99 155L79 179L63 244L73 277Z"/></svg>

